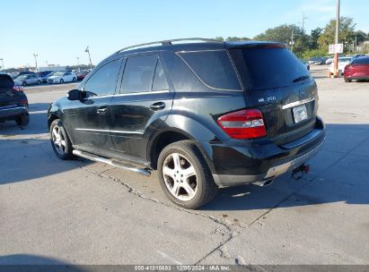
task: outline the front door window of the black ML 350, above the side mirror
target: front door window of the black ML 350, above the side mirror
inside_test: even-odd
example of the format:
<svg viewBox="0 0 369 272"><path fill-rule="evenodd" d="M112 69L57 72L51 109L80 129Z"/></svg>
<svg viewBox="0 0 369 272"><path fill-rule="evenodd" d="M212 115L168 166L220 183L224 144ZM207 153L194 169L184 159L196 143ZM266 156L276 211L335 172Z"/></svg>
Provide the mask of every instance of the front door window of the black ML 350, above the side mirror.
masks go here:
<svg viewBox="0 0 369 272"><path fill-rule="evenodd" d="M84 89L97 96L115 93L120 69L120 60L104 64L85 83Z"/></svg>

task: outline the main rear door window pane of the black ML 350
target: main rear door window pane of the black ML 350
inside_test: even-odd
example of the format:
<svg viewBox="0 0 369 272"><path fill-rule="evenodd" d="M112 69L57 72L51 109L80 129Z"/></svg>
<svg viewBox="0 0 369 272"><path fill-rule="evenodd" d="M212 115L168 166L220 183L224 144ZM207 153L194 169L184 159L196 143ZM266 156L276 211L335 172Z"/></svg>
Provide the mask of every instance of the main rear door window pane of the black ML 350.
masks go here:
<svg viewBox="0 0 369 272"><path fill-rule="evenodd" d="M120 92L150 91L157 59L157 55L128 57Z"/></svg>

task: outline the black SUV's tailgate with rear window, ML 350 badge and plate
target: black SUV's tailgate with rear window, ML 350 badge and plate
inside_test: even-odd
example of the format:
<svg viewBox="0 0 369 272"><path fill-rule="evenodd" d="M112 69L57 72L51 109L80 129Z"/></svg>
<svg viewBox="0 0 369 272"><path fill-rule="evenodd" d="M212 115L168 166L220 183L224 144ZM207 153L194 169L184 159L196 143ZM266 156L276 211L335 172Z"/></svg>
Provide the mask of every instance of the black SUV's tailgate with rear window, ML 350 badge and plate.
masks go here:
<svg viewBox="0 0 369 272"><path fill-rule="evenodd" d="M259 108L268 137L284 144L312 132L317 86L291 51L278 44L230 48L250 107Z"/></svg>

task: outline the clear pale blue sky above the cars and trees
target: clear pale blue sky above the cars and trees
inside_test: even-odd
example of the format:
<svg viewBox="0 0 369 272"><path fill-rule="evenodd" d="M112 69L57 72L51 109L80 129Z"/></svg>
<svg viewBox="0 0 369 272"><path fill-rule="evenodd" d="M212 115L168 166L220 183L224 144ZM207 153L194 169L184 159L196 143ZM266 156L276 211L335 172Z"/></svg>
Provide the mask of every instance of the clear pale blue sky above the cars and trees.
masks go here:
<svg viewBox="0 0 369 272"><path fill-rule="evenodd" d="M122 47L168 38L253 38L287 23L305 30L335 18L336 0L2 0L4 67L92 64ZM341 0L341 16L369 32L369 1ZM0 63L1 65L1 63Z"/></svg>

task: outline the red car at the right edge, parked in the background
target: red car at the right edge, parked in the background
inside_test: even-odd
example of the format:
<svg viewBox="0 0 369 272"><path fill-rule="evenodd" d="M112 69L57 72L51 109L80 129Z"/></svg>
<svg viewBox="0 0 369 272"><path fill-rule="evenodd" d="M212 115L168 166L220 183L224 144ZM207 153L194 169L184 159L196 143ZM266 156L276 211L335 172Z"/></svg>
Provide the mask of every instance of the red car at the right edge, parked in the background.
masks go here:
<svg viewBox="0 0 369 272"><path fill-rule="evenodd" d="M346 65L345 82L352 80L369 80L369 56L358 57Z"/></svg>

